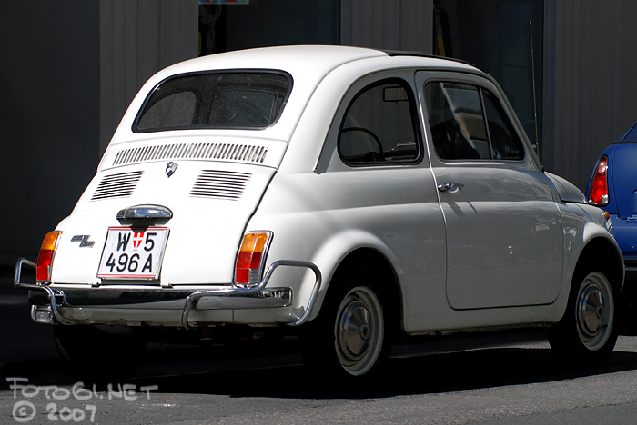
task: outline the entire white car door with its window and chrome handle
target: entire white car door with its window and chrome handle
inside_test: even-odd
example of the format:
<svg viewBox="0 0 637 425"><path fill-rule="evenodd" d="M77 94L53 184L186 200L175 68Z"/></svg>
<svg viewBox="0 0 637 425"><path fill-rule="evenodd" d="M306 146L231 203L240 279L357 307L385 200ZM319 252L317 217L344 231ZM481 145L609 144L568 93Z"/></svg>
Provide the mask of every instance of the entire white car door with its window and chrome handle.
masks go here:
<svg viewBox="0 0 637 425"><path fill-rule="evenodd" d="M447 232L450 306L555 301L560 212L498 89L469 74L422 72L417 84Z"/></svg>

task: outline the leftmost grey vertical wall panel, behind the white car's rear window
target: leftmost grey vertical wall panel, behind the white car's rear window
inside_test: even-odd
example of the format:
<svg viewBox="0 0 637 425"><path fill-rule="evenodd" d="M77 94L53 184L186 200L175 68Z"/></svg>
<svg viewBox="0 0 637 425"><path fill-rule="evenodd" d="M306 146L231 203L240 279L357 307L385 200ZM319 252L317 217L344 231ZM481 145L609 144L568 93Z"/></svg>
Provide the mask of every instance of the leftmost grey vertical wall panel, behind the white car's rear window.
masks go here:
<svg viewBox="0 0 637 425"><path fill-rule="evenodd" d="M197 57L197 22L197 0L100 0L100 155L142 84Z"/></svg>

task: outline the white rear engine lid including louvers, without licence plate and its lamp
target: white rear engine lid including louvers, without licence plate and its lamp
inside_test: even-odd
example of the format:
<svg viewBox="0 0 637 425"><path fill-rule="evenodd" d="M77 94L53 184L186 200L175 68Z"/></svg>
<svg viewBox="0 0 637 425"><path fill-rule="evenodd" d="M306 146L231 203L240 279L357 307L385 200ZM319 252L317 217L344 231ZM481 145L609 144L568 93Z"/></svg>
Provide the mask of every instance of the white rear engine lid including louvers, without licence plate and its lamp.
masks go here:
<svg viewBox="0 0 637 425"><path fill-rule="evenodd" d="M172 156L172 161L141 160L142 156L132 156L126 165L97 173L89 184L66 222L52 281L230 284L246 223L276 170L247 163L202 161L192 156L187 160ZM165 207L172 218L134 222L117 219L122 210L136 205ZM98 279L109 228L132 226L144 232L145 225L167 228L159 279Z"/></svg>

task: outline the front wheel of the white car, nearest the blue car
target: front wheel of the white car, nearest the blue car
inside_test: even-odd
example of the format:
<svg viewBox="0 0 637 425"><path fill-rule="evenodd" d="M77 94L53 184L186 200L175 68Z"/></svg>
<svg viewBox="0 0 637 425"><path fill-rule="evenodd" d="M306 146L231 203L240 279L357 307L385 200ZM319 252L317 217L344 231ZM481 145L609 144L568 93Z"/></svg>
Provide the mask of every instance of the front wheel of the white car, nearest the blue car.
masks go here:
<svg viewBox="0 0 637 425"><path fill-rule="evenodd" d="M548 332L555 356L577 367L597 367L606 361L617 341L616 300L604 272L576 270L564 316Z"/></svg>

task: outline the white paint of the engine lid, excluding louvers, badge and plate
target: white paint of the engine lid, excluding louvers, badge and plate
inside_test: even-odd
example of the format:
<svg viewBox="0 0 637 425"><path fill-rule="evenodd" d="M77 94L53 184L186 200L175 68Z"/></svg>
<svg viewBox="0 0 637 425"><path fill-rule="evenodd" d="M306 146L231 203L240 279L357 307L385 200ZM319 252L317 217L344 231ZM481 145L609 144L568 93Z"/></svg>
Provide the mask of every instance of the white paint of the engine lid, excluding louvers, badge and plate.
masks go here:
<svg viewBox="0 0 637 425"><path fill-rule="evenodd" d="M246 222L274 171L268 167L202 161L179 161L176 173L167 177L166 162L127 165L98 173L66 222L56 252L53 282L97 282L96 264L109 226L117 226L116 213L126 207L155 203L169 208L174 217L165 225L170 236L164 255L160 282L167 284L228 284ZM190 196L201 170L251 174L238 201ZM91 201L105 175L143 171L135 192L124 198ZM79 248L73 235L91 235L93 248Z"/></svg>

